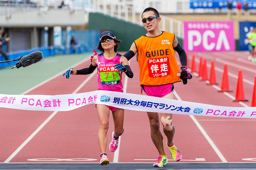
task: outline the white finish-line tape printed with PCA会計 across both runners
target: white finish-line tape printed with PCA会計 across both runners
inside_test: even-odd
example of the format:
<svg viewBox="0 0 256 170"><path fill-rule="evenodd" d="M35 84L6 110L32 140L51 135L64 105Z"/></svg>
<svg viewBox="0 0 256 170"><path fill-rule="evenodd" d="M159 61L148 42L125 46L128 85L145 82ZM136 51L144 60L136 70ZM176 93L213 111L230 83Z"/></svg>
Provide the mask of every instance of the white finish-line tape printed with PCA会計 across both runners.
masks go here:
<svg viewBox="0 0 256 170"><path fill-rule="evenodd" d="M87 104L105 104L122 109L143 112L149 111L183 115L256 118L256 107L215 106L105 90L54 96L0 94L0 107L12 109L68 111Z"/></svg>

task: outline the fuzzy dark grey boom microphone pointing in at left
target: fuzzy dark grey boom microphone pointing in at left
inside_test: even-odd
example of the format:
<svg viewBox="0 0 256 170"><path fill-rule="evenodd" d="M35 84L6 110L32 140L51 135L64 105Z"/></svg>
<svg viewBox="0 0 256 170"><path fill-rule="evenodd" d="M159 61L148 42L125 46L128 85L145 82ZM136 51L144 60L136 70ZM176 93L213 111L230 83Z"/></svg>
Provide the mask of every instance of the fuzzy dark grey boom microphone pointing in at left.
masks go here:
<svg viewBox="0 0 256 170"><path fill-rule="evenodd" d="M30 66L31 64L37 63L40 60L44 58L43 53L41 51L35 51L33 53L28 54L27 56L24 56L20 59L18 63L15 64L13 68L20 68L21 66L27 67Z"/></svg>

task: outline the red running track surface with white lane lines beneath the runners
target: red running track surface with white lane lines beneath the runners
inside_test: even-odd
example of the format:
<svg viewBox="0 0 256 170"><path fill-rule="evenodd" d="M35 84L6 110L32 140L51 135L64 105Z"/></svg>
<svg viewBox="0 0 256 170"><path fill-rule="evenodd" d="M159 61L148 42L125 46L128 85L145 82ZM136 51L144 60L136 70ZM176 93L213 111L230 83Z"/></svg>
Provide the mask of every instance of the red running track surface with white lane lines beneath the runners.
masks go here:
<svg viewBox="0 0 256 170"><path fill-rule="evenodd" d="M247 53L195 53L195 56L197 71L199 57L202 56L207 60L208 77L211 60L214 60L216 79L220 84L206 85L205 81L199 81L196 73L193 73L193 78L188 80L187 85L181 82L174 84L175 99L231 107L251 106L256 70L255 63L247 60ZM191 59L192 53L189 54L190 66ZM217 92L216 88L221 87L225 63L228 65L230 89L234 90L229 94L235 97L238 70L242 69L245 96L250 100L249 102L231 102L230 96ZM90 61L86 61L76 69L87 67L89 64ZM136 57L130 61L130 66L135 74L133 79L128 80L127 93L140 94ZM67 80L60 75L27 94L71 94L88 77L90 75L71 76ZM96 75L76 93L94 90L97 90ZM94 104L66 112L5 108L0 108L0 112L0 162L99 162L100 151L97 140L99 122ZM109 120L108 143L111 141L114 129L112 116ZM173 115L172 121L176 127L174 142L183 155L180 162L256 161L255 119L176 114ZM119 151L112 153L107 148L110 162L155 162L158 152L151 141L147 114L125 110L124 129ZM164 136L164 146L166 140ZM167 147L165 152L169 162L174 162Z"/></svg>

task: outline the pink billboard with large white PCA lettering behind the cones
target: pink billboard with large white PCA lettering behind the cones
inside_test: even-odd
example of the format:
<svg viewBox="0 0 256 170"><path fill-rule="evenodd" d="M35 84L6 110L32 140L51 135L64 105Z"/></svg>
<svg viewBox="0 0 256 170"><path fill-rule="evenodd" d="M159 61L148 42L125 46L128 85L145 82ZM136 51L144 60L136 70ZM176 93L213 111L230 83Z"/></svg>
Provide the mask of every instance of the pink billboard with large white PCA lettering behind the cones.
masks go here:
<svg viewBox="0 0 256 170"><path fill-rule="evenodd" d="M185 51L234 51L233 21L184 22Z"/></svg>

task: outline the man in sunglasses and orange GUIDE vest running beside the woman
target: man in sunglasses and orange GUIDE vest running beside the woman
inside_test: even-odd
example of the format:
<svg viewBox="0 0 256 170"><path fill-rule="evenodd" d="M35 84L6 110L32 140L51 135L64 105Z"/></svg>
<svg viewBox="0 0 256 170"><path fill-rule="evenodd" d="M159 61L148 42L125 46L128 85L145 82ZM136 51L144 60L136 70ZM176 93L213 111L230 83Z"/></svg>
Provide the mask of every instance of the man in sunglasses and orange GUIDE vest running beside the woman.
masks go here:
<svg viewBox="0 0 256 170"><path fill-rule="evenodd" d="M154 8L146 8L142 13L142 22L148 33L135 40L130 50L124 54L130 60L137 53L137 61L140 67L140 86L143 95L173 99L173 83L183 80L187 84L187 79L192 75L187 70L187 56L184 49L179 45L176 36L171 32L160 31L159 22L161 18ZM179 70L174 57L178 52L182 64ZM158 113L147 112L151 139L159 152L154 167L163 167L168 163L163 147L163 136L160 131L160 121ZM173 143L175 126L172 123L172 114L161 113L161 123L163 131L167 137L167 147L169 148L174 161L180 161L182 155Z"/></svg>

